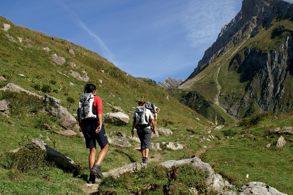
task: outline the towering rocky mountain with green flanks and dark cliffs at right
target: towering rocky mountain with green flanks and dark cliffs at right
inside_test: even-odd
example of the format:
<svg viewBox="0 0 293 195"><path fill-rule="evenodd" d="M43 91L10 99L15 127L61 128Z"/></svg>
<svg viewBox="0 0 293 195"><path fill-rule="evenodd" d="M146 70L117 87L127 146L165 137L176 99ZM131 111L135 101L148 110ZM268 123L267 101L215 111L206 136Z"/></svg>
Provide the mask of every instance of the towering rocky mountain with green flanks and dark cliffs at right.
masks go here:
<svg viewBox="0 0 293 195"><path fill-rule="evenodd" d="M291 3L243 0L178 88L199 91L236 118L292 111L292 30Z"/></svg>

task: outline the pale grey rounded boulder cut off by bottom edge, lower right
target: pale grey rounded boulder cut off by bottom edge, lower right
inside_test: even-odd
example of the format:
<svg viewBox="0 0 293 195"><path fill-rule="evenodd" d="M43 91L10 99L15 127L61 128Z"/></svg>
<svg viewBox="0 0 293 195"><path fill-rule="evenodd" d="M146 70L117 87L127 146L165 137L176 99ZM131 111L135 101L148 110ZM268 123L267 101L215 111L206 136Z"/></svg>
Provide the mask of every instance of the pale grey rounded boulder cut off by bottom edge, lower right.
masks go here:
<svg viewBox="0 0 293 195"><path fill-rule="evenodd" d="M240 189L238 189L237 192L234 191L225 191L218 195L251 195L251 194L257 194L257 195L287 195L284 194L277 189L268 186L267 184L263 182L249 182L246 185L242 186Z"/></svg>

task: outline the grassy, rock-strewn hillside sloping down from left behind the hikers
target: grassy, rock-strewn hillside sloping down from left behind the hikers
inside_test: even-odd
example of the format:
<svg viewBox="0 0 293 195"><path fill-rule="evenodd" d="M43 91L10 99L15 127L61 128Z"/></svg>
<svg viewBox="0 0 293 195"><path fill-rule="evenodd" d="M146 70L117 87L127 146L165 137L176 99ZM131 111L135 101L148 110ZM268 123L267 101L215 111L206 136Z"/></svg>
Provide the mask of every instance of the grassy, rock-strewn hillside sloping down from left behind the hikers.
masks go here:
<svg viewBox="0 0 293 195"><path fill-rule="evenodd" d="M8 25L10 28L4 29ZM125 112L132 111L140 98L156 102L161 108L161 119L173 123L180 122L180 113L186 112L177 100L172 97L168 100L168 94L160 87L150 86L128 75L95 52L16 26L3 17L0 17L0 27L0 76L6 78L6 83L15 83L41 96L48 93L61 99L71 113L76 112L79 96L87 82L98 87L97 94L103 99L104 113L112 111L111 104L120 106ZM170 102L181 111L174 110ZM207 124L204 119L199 122L193 116L202 118L188 109L183 121L190 121L195 126ZM162 120L158 122L164 124Z"/></svg>

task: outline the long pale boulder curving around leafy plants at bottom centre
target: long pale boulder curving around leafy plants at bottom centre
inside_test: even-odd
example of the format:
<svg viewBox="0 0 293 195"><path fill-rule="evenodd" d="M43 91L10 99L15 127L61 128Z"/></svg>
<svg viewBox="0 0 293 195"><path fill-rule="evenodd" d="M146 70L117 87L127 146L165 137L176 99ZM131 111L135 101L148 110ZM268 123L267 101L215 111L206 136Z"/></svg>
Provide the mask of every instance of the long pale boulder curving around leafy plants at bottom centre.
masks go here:
<svg viewBox="0 0 293 195"><path fill-rule="evenodd" d="M161 162L160 165L170 169L173 165L184 165L191 164L194 167L200 168L203 171L208 173L208 177L206 178L206 184L210 191L223 191L224 190L224 180L220 174L214 172L214 169L205 162L202 162L200 158L194 157L184 160L168 160L166 162Z"/></svg>

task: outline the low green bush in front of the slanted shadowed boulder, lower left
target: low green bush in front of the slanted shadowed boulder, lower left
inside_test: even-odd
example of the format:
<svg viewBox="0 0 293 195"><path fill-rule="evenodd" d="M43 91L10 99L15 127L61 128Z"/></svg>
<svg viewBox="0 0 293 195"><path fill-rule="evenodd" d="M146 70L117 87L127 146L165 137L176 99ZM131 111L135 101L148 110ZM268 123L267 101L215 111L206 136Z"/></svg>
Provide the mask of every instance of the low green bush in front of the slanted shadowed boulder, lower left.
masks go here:
<svg viewBox="0 0 293 195"><path fill-rule="evenodd" d="M49 165L46 161L46 151L41 149L6 152L1 157L1 164L6 169L23 173L41 172Z"/></svg>

